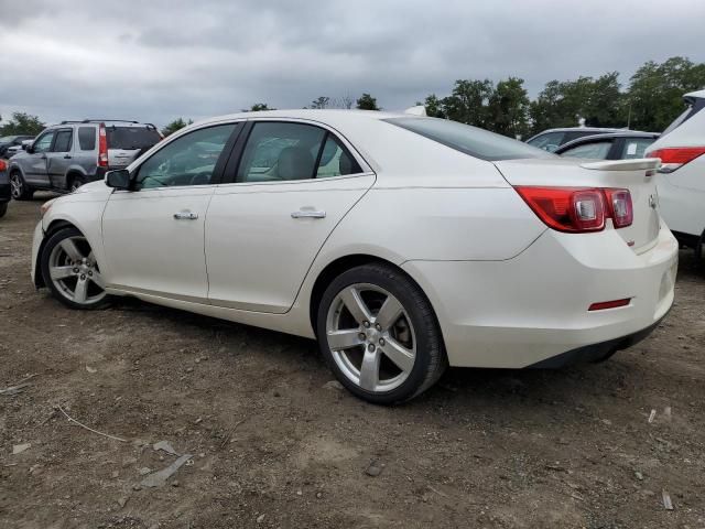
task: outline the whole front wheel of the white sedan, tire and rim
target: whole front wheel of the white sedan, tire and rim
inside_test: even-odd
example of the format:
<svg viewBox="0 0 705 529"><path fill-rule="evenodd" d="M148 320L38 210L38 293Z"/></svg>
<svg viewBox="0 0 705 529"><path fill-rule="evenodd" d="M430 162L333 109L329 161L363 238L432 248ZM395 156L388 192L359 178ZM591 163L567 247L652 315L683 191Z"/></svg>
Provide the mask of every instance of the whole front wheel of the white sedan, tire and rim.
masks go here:
<svg viewBox="0 0 705 529"><path fill-rule="evenodd" d="M93 249L76 228L50 237L40 256L44 283L54 298L72 309L97 309L107 294Z"/></svg>

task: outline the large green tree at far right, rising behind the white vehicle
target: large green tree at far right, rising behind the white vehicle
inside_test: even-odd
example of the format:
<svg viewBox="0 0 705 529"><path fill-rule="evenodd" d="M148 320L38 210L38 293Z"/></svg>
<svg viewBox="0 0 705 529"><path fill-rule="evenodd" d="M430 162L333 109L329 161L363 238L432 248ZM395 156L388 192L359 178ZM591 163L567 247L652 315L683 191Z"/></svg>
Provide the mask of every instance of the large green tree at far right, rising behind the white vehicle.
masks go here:
<svg viewBox="0 0 705 529"><path fill-rule="evenodd" d="M649 61L631 76L626 95L632 129L661 132L684 110L683 94L705 87L705 64L671 57Z"/></svg>

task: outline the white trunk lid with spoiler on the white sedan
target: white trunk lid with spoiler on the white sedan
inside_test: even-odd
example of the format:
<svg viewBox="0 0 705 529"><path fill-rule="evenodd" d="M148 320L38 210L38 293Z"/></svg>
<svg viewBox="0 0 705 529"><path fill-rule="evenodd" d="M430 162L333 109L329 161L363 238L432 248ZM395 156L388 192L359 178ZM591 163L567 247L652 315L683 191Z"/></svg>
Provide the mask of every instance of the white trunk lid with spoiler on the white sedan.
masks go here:
<svg viewBox="0 0 705 529"><path fill-rule="evenodd" d="M617 233L637 253L651 248L661 227L657 158L590 161L577 159L532 159L494 162L507 182L540 187L612 187L629 190L633 223ZM611 227L611 220L608 222Z"/></svg>

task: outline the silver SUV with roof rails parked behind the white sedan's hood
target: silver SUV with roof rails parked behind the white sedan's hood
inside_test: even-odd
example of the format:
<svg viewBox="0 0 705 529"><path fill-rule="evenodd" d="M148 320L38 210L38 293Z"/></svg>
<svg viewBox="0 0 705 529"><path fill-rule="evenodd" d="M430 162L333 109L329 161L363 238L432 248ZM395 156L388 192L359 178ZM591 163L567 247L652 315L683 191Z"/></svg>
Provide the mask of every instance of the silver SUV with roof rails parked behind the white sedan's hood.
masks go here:
<svg viewBox="0 0 705 529"><path fill-rule="evenodd" d="M73 192L101 180L109 169L126 168L161 139L151 123L62 121L10 160L12 197L28 199L35 190Z"/></svg>

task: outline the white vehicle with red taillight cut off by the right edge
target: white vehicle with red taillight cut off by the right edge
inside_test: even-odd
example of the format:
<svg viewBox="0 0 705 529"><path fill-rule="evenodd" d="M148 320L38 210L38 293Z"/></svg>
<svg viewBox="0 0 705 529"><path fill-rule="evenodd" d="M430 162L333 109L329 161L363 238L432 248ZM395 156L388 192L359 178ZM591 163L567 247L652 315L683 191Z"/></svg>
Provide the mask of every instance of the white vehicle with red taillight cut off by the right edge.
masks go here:
<svg viewBox="0 0 705 529"><path fill-rule="evenodd" d="M703 260L705 241L705 90L684 97L687 109L651 144L660 158L659 202L679 241Z"/></svg>

